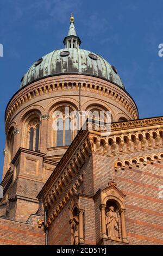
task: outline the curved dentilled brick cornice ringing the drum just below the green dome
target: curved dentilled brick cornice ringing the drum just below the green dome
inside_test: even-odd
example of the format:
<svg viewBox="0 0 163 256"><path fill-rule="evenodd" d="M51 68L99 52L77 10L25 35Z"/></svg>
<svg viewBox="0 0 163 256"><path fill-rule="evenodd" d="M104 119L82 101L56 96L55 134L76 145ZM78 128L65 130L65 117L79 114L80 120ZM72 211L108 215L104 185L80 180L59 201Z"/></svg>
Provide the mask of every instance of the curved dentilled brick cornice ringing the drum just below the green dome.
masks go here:
<svg viewBox="0 0 163 256"><path fill-rule="evenodd" d="M67 81L67 76L60 76L56 77L57 79L54 82L54 78L45 78L45 80L34 82L30 84L28 87L22 88L18 93L12 97L10 100L6 112L5 112L5 129L7 131L9 121L12 117L12 115L18 111L20 107L23 105L30 105L30 101L34 100L37 101L37 98L39 96L42 96L43 94L46 95L54 93L54 92L60 92L62 95L62 92L65 92L65 90L72 90L73 89L73 95L74 91L79 90L78 83L81 79L81 90L83 94L85 94L86 91L91 92L92 94L101 94L102 96L109 97L109 99L112 99L112 101L115 102L115 106L121 106L122 108L127 111L132 119L136 119L139 117L139 114L137 112L137 108L135 105L135 102L131 99L131 97L127 94L125 90L122 88L119 88L115 86L115 84L111 84L110 82L103 81L99 78L90 78L89 81L86 79L86 76L79 77L75 75L71 75L69 77L72 77L70 82ZM99 99L99 97L98 97ZM85 110L85 109L83 109ZM118 109L117 109L118 111ZM44 114L43 114L44 115Z"/></svg>

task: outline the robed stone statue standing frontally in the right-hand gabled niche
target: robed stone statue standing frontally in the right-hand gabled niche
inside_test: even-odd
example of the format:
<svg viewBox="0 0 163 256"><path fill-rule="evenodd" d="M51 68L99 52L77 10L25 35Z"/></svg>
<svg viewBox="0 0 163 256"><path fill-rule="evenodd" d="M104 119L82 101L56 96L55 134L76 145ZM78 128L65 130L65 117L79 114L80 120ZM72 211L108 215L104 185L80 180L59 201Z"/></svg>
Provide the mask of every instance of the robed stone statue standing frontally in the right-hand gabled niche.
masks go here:
<svg viewBox="0 0 163 256"><path fill-rule="evenodd" d="M106 229L108 230L108 238L119 239L119 228L118 228L118 216L114 211L114 207L110 206L109 211L106 213L105 217Z"/></svg>

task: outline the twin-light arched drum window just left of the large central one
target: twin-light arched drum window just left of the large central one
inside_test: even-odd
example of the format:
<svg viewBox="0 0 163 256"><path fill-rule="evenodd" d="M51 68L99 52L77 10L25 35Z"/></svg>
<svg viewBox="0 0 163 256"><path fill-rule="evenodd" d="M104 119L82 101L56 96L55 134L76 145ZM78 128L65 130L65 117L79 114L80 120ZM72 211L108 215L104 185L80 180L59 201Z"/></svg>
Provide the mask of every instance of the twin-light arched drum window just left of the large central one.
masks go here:
<svg viewBox="0 0 163 256"><path fill-rule="evenodd" d="M28 124L28 142L27 148L30 150L39 150L39 133L40 124L39 119L33 119Z"/></svg>

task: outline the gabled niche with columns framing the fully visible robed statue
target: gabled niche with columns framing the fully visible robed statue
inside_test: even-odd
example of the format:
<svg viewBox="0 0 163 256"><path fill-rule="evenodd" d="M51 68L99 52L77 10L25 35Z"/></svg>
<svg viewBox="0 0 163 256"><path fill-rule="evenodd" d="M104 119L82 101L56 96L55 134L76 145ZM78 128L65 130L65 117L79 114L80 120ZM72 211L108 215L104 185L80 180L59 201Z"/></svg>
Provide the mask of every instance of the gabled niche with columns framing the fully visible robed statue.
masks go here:
<svg viewBox="0 0 163 256"><path fill-rule="evenodd" d="M101 190L101 230L102 238L128 243L126 237L125 205L126 195L120 191L115 180Z"/></svg>

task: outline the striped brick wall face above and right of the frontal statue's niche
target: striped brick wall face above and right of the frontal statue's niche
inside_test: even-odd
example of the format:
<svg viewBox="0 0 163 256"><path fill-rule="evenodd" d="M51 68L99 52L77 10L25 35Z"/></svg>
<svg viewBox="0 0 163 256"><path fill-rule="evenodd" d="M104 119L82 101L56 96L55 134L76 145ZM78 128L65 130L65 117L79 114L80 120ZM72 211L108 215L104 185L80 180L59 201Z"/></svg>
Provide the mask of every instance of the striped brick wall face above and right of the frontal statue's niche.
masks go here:
<svg viewBox="0 0 163 256"><path fill-rule="evenodd" d="M117 181L117 187L127 195L126 229L128 241L133 245L163 244L163 205L158 189L163 184L163 158L160 163L154 160L153 164L147 162L146 166L143 163L139 167L133 164L132 168L126 166L116 172L114 163L118 158L123 160L159 152L160 148L114 156L93 153L94 193L108 186L110 178Z"/></svg>

